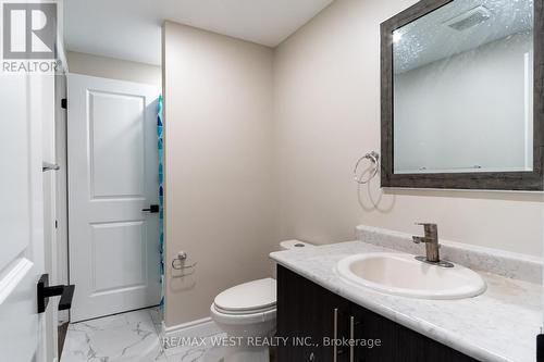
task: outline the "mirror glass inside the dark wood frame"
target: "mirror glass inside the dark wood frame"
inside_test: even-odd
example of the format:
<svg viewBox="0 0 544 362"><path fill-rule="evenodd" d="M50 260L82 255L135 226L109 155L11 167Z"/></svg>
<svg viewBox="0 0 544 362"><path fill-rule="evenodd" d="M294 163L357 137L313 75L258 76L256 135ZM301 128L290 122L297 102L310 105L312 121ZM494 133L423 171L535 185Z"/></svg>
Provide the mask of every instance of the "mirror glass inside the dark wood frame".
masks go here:
<svg viewBox="0 0 544 362"><path fill-rule="evenodd" d="M532 171L532 0L454 0L393 42L394 173Z"/></svg>

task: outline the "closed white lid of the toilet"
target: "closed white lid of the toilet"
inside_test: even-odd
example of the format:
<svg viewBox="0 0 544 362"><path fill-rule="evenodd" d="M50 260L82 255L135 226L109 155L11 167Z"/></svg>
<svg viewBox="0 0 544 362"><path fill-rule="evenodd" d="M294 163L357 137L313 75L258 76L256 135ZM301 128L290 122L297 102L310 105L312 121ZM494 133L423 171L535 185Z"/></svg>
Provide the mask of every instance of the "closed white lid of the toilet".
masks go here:
<svg viewBox="0 0 544 362"><path fill-rule="evenodd" d="M274 307L275 301L275 280L265 278L226 289L215 297L214 303L224 311L250 312Z"/></svg>

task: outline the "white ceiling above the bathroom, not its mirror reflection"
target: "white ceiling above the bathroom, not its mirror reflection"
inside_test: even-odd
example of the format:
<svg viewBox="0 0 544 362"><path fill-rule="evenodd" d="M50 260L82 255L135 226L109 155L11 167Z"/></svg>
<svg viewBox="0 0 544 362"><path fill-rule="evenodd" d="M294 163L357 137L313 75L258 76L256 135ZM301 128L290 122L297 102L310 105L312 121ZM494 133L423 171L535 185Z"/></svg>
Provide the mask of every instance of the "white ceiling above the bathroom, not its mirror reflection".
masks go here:
<svg viewBox="0 0 544 362"><path fill-rule="evenodd" d="M69 51L161 63L164 20L275 47L333 0L65 0Z"/></svg>

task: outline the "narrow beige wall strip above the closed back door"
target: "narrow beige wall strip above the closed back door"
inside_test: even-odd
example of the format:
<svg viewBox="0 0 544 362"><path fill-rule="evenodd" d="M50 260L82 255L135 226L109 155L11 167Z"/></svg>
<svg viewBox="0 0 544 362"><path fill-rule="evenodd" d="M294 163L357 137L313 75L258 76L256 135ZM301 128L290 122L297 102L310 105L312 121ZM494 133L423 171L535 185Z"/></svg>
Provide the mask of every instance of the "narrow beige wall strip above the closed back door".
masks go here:
<svg viewBox="0 0 544 362"><path fill-rule="evenodd" d="M69 51L66 54L70 73L96 77L161 85L161 67L120 59Z"/></svg>

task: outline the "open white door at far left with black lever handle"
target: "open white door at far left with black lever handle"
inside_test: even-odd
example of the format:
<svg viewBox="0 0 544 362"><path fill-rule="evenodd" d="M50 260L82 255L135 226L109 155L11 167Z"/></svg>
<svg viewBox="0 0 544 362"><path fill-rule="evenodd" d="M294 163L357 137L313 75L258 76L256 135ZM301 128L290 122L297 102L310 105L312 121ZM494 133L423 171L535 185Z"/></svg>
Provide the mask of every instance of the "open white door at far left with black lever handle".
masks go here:
<svg viewBox="0 0 544 362"><path fill-rule="evenodd" d="M46 361L47 355L55 354L49 338L53 326L47 323L45 313L38 314L36 299L36 284L45 273L46 248L41 126L54 116L52 85L52 77L45 75L0 77L2 361ZM51 308L55 305L50 301L48 310Z"/></svg>

